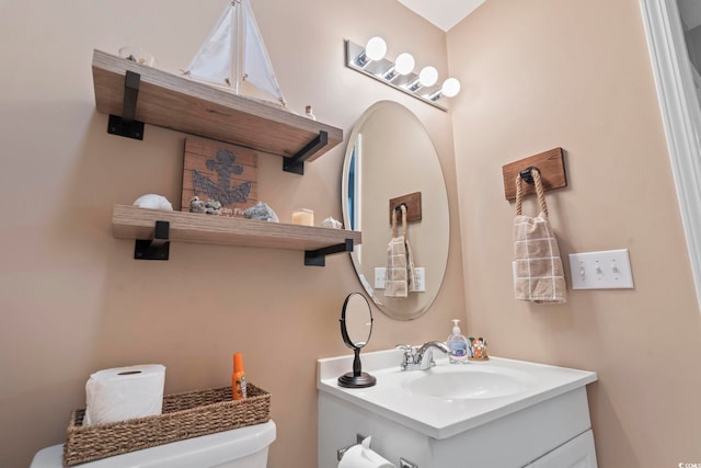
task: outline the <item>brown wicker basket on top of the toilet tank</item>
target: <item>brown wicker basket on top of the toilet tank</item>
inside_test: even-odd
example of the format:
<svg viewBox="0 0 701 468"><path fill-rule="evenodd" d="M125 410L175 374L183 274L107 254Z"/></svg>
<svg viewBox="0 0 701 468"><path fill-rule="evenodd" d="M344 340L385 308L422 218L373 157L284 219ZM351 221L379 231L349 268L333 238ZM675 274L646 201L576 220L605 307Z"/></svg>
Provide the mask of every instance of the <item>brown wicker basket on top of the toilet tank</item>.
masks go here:
<svg viewBox="0 0 701 468"><path fill-rule="evenodd" d="M64 466L126 454L271 419L271 393L246 385L248 398L233 401L231 387L163 397L162 414L83 426L84 409L71 414Z"/></svg>

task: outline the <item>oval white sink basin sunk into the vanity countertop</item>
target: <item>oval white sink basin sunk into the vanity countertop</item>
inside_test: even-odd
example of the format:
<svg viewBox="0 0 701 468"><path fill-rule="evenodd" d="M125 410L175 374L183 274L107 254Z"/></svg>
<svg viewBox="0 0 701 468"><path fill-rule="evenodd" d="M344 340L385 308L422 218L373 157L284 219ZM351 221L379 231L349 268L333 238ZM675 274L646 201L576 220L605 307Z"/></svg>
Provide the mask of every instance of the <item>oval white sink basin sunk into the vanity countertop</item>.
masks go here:
<svg viewBox="0 0 701 468"><path fill-rule="evenodd" d="M507 367L456 364L409 372L401 387L409 395L450 401L507 397L524 392L536 383L533 376Z"/></svg>

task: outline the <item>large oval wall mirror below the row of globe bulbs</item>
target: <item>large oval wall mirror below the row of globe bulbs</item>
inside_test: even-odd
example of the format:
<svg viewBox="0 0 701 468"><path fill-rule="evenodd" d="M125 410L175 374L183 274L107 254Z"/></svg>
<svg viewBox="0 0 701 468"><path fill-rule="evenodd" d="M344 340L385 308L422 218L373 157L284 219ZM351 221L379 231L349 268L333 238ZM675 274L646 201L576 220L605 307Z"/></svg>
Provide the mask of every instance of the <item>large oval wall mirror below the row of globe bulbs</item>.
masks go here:
<svg viewBox="0 0 701 468"><path fill-rule="evenodd" d="M350 258L368 296L393 319L422 316L443 284L450 219L438 155L428 133L409 109L380 101L360 116L348 139L342 192L345 226L363 231L363 243ZM421 219L407 222L407 240L414 265L424 271L424 287L420 287L424 290L411 292L406 297L386 297L383 284L376 276L382 276L381 269L388 264L392 237L390 199L416 193L421 194Z"/></svg>

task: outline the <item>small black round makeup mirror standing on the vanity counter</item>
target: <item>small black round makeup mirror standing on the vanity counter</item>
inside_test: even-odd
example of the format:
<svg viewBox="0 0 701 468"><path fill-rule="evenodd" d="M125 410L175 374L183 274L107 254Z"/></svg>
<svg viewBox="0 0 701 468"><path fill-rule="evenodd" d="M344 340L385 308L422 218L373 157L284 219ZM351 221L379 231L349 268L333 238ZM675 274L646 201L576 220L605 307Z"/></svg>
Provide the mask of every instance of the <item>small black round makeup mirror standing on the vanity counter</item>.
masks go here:
<svg viewBox="0 0 701 468"><path fill-rule="evenodd" d="M341 312L341 334L346 346L353 350L353 372L338 377L338 385L346 388L372 387L377 379L363 372L360 350L370 340L372 333L372 312L370 304L360 293L352 293L343 303Z"/></svg>

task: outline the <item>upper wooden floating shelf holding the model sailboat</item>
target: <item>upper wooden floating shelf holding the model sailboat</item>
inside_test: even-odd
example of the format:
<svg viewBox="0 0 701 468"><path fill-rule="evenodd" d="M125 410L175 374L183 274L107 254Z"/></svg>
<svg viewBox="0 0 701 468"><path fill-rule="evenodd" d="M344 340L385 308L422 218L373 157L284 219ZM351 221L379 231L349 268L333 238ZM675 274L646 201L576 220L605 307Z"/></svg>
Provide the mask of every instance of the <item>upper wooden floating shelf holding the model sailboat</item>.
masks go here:
<svg viewBox="0 0 701 468"><path fill-rule="evenodd" d="M127 84L127 72L131 77L138 75L136 84ZM130 109L135 121L284 158L294 159L307 151L303 157L307 161L343 141L342 129L275 103L233 94L96 49L92 75L95 105L101 113L120 116L126 112L125 103L131 100L136 101L131 102L136 109ZM125 94L129 94L126 100Z"/></svg>

